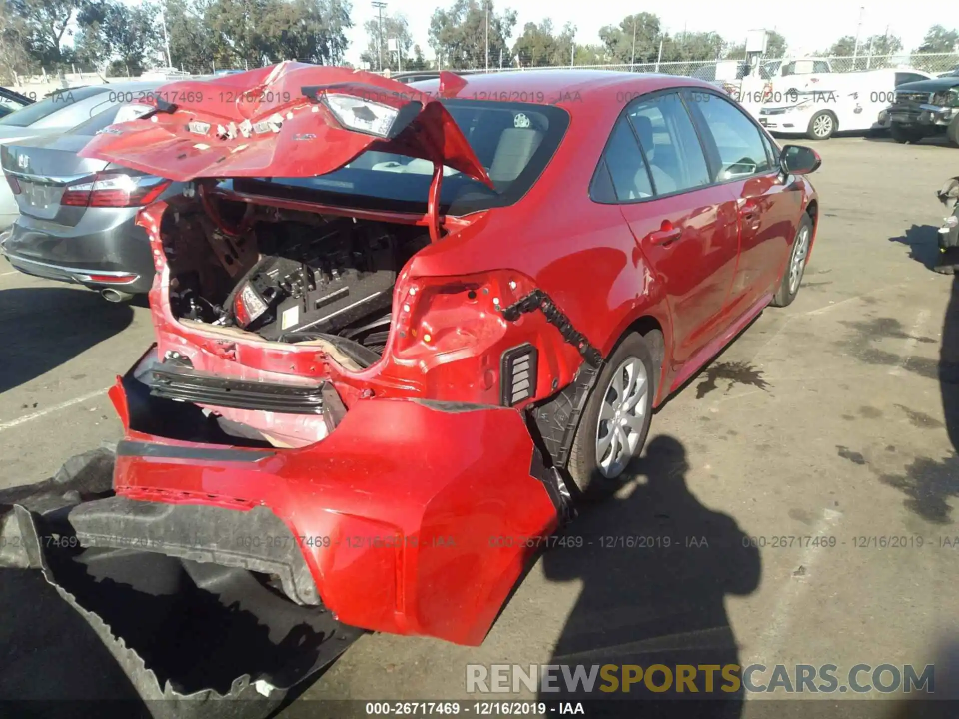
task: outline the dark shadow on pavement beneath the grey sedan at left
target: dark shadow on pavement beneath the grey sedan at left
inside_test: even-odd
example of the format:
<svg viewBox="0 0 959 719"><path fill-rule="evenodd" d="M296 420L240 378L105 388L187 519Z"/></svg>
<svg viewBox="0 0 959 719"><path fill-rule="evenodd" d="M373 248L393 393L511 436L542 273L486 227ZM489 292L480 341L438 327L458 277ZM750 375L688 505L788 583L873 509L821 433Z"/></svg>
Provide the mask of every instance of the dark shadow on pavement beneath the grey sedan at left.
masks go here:
<svg viewBox="0 0 959 719"><path fill-rule="evenodd" d="M123 332L133 319L125 304L69 287L0 290L4 347L0 392L30 382L82 352Z"/></svg>

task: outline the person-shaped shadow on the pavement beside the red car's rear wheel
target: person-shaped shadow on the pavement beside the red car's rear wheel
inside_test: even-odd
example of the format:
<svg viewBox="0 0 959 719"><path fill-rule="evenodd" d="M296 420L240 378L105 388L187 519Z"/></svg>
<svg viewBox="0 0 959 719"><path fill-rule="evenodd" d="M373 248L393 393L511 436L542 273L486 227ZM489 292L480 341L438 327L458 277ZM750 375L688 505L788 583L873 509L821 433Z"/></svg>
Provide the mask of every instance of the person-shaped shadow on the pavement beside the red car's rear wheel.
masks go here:
<svg viewBox="0 0 959 719"><path fill-rule="evenodd" d="M636 463L639 479L628 496L585 511L567 532L582 546L557 545L543 556L548 579L579 580L582 591L554 649L550 663L638 664L645 670L664 664L738 664L737 641L726 614L726 594L748 594L760 583L760 555L737 523L703 506L686 484L686 451L675 438L661 435L646 446ZM621 493L620 493L621 494ZM578 540L577 540L578 542ZM621 671L620 671L621 679ZM590 716L689 717L735 719L742 711L742 690L720 690L732 683L717 669L709 701L692 706L683 697L704 697L705 679L697 671L698 694L689 690L653 692L643 680L629 693L603 692L597 677L592 692L541 688L539 700L590 700ZM662 685L657 671L652 684ZM556 684L565 684L560 675ZM638 701L643 704L639 704ZM651 703L650 700L664 700Z"/></svg>

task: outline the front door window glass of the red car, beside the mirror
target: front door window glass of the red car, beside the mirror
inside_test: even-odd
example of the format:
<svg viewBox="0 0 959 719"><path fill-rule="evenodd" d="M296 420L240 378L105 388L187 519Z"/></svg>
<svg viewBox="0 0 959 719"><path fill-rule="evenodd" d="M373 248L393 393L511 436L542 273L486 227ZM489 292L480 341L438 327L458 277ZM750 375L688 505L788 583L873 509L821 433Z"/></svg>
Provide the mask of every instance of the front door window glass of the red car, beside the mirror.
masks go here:
<svg viewBox="0 0 959 719"><path fill-rule="evenodd" d="M719 152L719 168L713 178L716 182L769 172L762 133L752 121L718 95L692 93L691 96Z"/></svg>

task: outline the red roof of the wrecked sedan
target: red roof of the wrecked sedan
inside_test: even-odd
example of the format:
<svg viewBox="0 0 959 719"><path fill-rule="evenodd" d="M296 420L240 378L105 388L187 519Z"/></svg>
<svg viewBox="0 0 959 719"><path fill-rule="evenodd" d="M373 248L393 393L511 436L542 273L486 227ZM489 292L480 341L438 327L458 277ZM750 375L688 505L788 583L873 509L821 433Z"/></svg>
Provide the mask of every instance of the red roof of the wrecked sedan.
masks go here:
<svg viewBox="0 0 959 719"><path fill-rule="evenodd" d="M508 72L462 75L462 89L452 98L468 100L502 100L516 103L556 104L571 113L585 104L610 104L621 108L623 96L630 97L667 87L703 87L715 85L676 75L627 73L613 70L511 70ZM435 94L438 80L410 82L417 90Z"/></svg>

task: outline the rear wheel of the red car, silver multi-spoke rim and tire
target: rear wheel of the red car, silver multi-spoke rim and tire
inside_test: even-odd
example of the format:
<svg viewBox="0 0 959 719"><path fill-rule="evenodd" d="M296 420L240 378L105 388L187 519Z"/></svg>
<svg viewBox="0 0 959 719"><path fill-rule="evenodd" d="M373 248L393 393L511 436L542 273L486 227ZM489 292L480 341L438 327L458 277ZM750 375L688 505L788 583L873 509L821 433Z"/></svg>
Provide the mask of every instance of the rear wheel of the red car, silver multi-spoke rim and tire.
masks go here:
<svg viewBox="0 0 959 719"><path fill-rule="evenodd" d="M658 369L643 336L625 336L596 379L573 437L569 470L580 499L614 494L629 462L643 451ZM601 418L601 419L600 419Z"/></svg>

